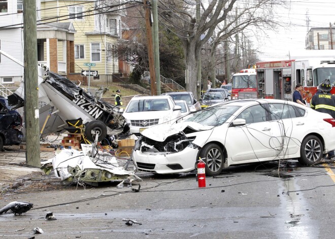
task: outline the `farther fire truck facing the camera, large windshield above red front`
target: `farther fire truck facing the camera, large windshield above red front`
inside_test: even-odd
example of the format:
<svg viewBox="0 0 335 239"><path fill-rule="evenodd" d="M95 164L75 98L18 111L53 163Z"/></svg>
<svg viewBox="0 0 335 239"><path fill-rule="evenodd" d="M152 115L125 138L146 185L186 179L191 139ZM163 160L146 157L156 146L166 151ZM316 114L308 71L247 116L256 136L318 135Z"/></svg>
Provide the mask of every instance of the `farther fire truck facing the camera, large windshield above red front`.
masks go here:
<svg viewBox="0 0 335 239"><path fill-rule="evenodd" d="M241 70L232 75L231 99L257 98L256 70Z"/></svg>

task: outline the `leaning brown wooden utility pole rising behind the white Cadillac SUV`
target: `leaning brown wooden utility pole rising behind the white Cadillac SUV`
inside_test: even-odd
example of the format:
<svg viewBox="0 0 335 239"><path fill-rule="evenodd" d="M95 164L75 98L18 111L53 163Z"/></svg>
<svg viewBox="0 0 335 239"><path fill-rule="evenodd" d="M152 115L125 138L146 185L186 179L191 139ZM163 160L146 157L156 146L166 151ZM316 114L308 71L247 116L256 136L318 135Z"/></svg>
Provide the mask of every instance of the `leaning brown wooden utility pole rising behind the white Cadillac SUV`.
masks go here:
<svg viewBox="0 0 335 239"><path fill-rule="evenodd" d="M156 73L153 55L153 44L152 44L152 32L151 32L151 14L150 14L150 4L149 1L143 0L145 9L145 21L147 29L147 41L148 41L148 57L149 57L149 71L150 71L150 85L151 85L151 95L157 95L156 90Z"/></svg>

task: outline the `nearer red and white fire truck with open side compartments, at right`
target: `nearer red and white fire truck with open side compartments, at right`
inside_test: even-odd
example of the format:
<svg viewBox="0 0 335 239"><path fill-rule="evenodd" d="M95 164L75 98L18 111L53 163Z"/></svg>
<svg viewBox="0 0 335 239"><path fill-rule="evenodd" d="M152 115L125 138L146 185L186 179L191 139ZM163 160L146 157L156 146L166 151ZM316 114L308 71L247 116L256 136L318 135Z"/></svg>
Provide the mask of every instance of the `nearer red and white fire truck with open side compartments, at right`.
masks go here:
<svg viewBox="0 0 335 239"><path fill-rule="evenodd" d="M335 85L335 58L257 62L256 76L257 98L292 100L295 85L300 83L304 88L301 95L309 104L323 80ZM330 93L335 93L334 87Z"/></svg>

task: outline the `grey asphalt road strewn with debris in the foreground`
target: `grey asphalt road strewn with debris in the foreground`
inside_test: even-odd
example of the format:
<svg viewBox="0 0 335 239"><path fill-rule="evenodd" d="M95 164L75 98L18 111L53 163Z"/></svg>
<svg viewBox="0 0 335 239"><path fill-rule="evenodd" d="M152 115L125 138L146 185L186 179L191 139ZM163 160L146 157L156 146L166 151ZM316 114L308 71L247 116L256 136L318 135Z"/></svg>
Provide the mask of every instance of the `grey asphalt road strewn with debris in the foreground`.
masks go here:
<svg viewBox="0 0 335 239"><path fill-rule="evenodd" d="M194 173L138 173L139 192L117 183L63 185L34 172L3 192L0 207L11 201L34 207L21 216L0 215L0 237L332 238L333 170L332 162L244 165L207 177L206 188L198 188ZM45 220L49 211L57 220ZM44 233L34 235L36 227Z"/></svg>

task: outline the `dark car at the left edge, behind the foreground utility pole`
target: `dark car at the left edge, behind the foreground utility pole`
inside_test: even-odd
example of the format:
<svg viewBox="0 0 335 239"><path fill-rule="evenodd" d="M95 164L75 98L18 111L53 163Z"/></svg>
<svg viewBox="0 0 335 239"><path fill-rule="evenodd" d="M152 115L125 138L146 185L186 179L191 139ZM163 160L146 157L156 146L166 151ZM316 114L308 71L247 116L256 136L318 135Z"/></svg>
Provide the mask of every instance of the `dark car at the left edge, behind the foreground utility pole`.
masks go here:
<svg viewBox="0 0 335 239"><path fill-rule="evenodd" d="M0 151L4 145L18 145L22 142L22 117L11 110L7 98L0 96Z"/></svg>

